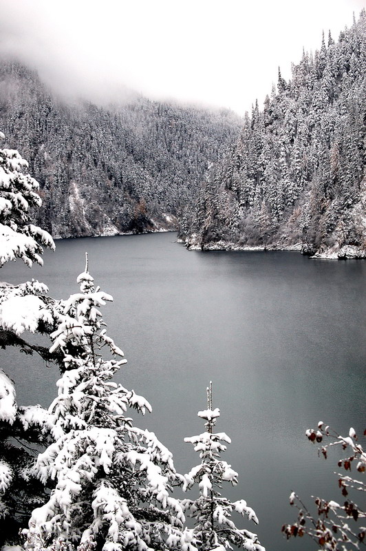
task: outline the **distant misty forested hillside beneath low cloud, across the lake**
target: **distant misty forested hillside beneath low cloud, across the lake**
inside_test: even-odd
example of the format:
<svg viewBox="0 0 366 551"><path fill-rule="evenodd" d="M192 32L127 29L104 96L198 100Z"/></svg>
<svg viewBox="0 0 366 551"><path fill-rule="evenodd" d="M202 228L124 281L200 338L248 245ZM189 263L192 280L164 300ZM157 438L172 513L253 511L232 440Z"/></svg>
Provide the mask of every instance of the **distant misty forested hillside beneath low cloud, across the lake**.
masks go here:
<svg viewBox="0 0 366 551"><path fill-rule="evenodd" d="M176 229L240 124L227 110L141 96L109 108L71 105L19 63L0 63L5 146L28 159L41 185L42 224L54 237Z"/></svg>

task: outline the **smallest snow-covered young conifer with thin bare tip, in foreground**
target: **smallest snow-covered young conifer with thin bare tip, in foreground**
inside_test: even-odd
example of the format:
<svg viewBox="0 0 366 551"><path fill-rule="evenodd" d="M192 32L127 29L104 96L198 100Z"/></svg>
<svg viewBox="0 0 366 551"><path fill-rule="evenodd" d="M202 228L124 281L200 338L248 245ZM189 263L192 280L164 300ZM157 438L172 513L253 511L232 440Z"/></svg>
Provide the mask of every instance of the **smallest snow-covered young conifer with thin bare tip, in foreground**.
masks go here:
<svg viewBox="0 0 366 551"><path fill-rule="evenodd" d="M184 475L184 490L189 490L195 483L200 488L200 497L182 501L185 512L195 519L194 539L189 551L226 551L232 549L231 545L246 551L265 551L256 534L237 528L231 518L231 513L236 511L257 524L254 510L247 506L244 499L232 503L219 492L224 481L237 484L238 476L226 461L220 459L220 453L226 450L223 442L230 444L230 438L225 433L213 433L219 415L219 408L213 409L210 382L207 388L207 409L198 412L198 416L206 421L206 432L184 438L184 441L195 446L195 451L200 453L202 459L199 465Z"/></svg>

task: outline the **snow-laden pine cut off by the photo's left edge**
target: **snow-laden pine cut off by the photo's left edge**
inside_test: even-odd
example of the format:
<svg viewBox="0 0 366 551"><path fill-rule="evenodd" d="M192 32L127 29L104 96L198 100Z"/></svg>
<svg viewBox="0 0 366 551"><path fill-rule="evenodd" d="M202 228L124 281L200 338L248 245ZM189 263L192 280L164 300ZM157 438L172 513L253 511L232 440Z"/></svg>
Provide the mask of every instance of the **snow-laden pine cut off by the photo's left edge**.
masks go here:
<svg viewBox="0 0 366 551"><path fill-rule="evenodd" d="M4 138L2 133L0 138ZM42 245L54 249L51 236L30 223L29 210L39 207L41 198L36 180L23 174L26 167L28 163L17 151L0 149L0 267L17 258L28 266L42 264ZM24 331L34 333L52 325L53 303L45 293L47 287L34 280L19 285L0 283L2 349L19 346L50 359L43 346L21 338ZM45 487L28 479L28 468L49 430L47 412L39 406L18 406L14 383L0 368L0 546L19 543L19 528L45 499Z"/></svg>

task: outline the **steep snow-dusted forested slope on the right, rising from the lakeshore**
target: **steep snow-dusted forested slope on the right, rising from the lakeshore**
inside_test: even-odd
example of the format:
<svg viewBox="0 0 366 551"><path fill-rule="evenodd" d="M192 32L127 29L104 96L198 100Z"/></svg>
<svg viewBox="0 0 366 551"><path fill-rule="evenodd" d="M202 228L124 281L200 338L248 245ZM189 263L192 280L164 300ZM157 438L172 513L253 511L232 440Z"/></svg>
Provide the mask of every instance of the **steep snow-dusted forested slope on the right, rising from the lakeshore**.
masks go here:
<svg viewBox="0 0 366 551"><path fill-rule="evenodd" d="M298 248L365 256L366 14L338 42L303 52L286 82L246 116L182 220L202 249Z"/></svg>

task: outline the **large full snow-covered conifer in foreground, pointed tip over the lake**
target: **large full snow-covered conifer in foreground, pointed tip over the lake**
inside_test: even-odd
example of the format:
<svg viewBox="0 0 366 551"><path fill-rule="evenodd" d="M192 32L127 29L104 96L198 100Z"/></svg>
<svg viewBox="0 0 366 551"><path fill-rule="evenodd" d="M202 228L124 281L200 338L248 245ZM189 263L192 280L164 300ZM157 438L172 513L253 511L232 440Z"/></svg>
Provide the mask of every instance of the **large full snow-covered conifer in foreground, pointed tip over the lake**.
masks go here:
<svg viewBox="0 0 366 551"><path fill-rule="evenodd" d="M133 426L127 408L151 410L146 399L111 381L125 364L107 335L100 306L111 296L94 288L88 266L80 292L63 302L51 351L61 350L65 372L50 406L54 442L33 474L54 481L48 501L24 531L28 550L187 550L180 482L172 455L148 430ZM69 353L69 346L74 353ZM108 351L111 359L102 356ZM119 359L116 359L116 358Z"/></svg>

